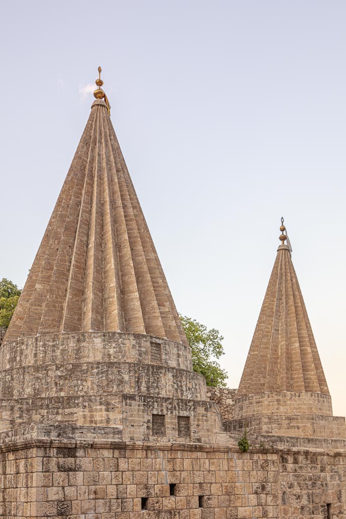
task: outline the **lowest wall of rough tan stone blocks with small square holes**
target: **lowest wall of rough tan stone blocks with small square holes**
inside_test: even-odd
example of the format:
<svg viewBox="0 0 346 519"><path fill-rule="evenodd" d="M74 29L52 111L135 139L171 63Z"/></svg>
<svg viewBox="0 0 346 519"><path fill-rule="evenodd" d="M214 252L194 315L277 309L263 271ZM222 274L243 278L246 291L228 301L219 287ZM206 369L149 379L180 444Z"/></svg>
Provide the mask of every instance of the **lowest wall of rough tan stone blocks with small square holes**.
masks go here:
<svg viewBox="0 0 346 519"><path fill-rule="evenodd" d="M345 454L42 439L0 454L0 515L345 519Z"/></svg>

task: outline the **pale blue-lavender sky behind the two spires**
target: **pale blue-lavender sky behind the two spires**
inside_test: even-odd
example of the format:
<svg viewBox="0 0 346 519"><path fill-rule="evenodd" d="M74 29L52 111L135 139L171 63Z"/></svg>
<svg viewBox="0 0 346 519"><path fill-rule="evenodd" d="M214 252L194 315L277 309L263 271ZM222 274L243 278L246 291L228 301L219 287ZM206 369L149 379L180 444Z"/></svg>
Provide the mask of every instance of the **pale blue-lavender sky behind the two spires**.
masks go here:
<svg viewBox="0 0 346 519"><path fill-rule="evenodd" d="M25 282L102 66L179 311L237 387L283 215L336 415L346 414L346 3L2 6L0 278Z"/></svg>

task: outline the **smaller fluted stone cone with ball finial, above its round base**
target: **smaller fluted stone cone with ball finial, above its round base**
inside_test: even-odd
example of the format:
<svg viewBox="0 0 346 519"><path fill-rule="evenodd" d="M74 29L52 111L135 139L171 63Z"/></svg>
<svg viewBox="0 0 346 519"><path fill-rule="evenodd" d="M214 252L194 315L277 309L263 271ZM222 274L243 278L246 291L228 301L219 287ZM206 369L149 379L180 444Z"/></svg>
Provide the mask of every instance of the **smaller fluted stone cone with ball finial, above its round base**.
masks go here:
<svg viewBox="0 0 346 519"><path fill-rule="evenodd" d="M238 396L273 392L329 394L290 250L282 244L274 263Z"/></svg>

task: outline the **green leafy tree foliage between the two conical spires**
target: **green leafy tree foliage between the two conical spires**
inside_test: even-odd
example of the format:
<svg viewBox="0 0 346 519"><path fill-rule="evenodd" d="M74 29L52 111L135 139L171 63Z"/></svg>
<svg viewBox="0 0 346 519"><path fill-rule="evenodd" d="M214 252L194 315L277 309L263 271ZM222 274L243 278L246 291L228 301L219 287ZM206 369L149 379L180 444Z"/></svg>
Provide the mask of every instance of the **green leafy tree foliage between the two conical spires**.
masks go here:
<svg viewBox="0 0 346 519"><path fill-rule="evenodd" d="M224 337L214 328L208 330L196 319L182 315L179 317L192 350L193 371L203 375L207 386L226 387L227 372L215 360L225 353L221 344Z"/></svg>

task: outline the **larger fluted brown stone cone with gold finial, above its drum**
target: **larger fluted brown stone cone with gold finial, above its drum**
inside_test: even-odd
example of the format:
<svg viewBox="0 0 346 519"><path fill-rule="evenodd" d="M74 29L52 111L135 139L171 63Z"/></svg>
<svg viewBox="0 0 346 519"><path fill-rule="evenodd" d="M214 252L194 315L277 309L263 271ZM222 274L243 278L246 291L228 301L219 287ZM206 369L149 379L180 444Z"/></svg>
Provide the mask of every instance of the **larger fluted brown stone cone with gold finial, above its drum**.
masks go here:
<svg viewBox="0 0 346 519"><path fill-rule="evenodd" d="M120 331L187 344L101 78L96 85L96 101L5 341Z"/></svg>

